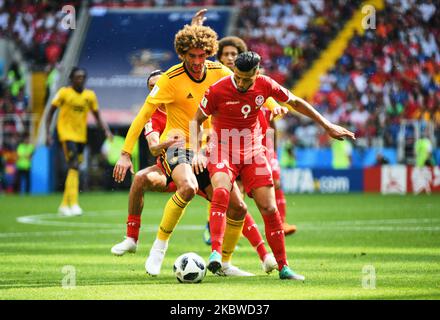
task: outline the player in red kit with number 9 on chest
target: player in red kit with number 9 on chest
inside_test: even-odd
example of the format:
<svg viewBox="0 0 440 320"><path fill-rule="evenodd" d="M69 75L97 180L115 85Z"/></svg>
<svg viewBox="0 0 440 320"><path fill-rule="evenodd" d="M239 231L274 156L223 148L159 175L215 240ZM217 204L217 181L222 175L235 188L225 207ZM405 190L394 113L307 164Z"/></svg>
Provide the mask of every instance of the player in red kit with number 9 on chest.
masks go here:
<svg viewBox="0 0 440 320"><path fill-rule="evenodd" d="M354 134L325 119L309 103L294 96L269 77L259 75L260 56L255 52L241 53L235 61L234 75L217 81L205 93L195 115L196 132L192 143L196 156L192 165L197 173L207 167L213 187L211 201L212 253L208 269L215 273L221 267L222 237L225 213L230 191L238 175L241 176L246 193L260 210L267 242L278 263L280 279L304 280L289 268L285 250L284 231L275 201L272 173L262 144L258 113L266 99L289 104L298 112L320 124L335 138L354 139ZM285 114L287 108L277 107L276 114ZM199 152L200 125L211 115L214 132L212 149L208 159Z"/></svg>

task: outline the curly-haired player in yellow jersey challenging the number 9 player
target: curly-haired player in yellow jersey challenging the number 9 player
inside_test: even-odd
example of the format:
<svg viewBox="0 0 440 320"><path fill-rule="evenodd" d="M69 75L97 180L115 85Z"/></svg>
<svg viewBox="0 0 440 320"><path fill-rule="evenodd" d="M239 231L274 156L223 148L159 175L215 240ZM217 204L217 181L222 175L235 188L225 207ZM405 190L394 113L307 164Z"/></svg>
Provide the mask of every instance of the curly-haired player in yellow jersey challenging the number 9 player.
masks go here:
<svg viewBox="0 0 440 320"><path fill-rule="evenodd" d="M186 25L176 34L174 46L182 63L171 67L159 78L130 126L121 157L113 171L116 181L123 181L128 170L133 173L130 153L134 142L157 106L165 105L167 125L160 139L167 141L169 138L181 137L185 140L185 148L168 148L161 155L163 172L174 181L177 191L165 206L156 240L145 263L147 273L153 276L160 273L168 240L189 201L199 189L203 190L208 198L212 195L206 170L196 176L191 167L193 152L189 149L190 121L205 90L224 76L232 74L222 64L206 60L217 51L217 34L209 27ZM235 217L243 216L243 212L247 211L236 185L229 209L227 215L230 223L226 230L228 227L240 229L235 238L225 236L225 242L228 239L227 247L231 248L232 252L243 225L243 220L236 220ZM223 247L226 250L226 246Z"/></svg>

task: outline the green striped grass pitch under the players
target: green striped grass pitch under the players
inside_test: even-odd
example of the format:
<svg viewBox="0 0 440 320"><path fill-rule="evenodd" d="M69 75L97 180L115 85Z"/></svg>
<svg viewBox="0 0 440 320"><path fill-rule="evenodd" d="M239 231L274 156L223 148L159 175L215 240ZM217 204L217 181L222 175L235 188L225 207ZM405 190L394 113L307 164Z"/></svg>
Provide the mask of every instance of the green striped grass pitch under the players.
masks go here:
<svg viewBox="0 0 440 320"><path fill-rule="evenodd" d="M114 257L110 248L125 234L127 193L81 194L86 213L69 218L54 214L60 194L0 196L0 299L440 298L439 196L289 195L288 220L299 231L286 238L287 254L293 269L306 276L304 283L264 274L243 238L233 261L256 277L208 274L190 285L177 283L172 265L184 252L209 255L200 198L175 231L162 274L150 278L144 271L168 197L146 195L138 252ZM248 204L262 229L255 206ZM74 288L62 286L69 266L76 274ZM375 288L362 286L369 279L365 268L374 268Z"/></svg>

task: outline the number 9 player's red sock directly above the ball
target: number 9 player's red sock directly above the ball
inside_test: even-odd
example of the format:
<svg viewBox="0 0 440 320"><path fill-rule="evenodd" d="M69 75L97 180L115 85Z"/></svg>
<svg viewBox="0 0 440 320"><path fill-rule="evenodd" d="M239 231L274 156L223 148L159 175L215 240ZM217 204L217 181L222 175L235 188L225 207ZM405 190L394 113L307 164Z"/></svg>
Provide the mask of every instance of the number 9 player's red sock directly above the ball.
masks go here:
<svg viewBox="0 0 440 320"><path fill-rule="evenodd" d="M226 229L226 210L229 205L229 191L217 188L212 194L209 210L209 229L211 231L212 251L222 253L223 237Z"/></svg>

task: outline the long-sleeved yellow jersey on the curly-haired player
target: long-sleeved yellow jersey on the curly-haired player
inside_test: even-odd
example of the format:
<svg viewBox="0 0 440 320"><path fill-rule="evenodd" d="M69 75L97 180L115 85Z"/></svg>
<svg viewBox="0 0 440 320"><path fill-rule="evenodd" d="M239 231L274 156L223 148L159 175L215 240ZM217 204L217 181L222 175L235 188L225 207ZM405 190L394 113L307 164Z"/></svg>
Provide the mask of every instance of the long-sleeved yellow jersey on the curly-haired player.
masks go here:
<svg viewBox="0 0 440 320"><path fill-rule="evenodd" d="M143 127L151 118L157 106L163 104L167 113L167 124L160 136L160 141L178 134L186 138L189 146L190 122L193 120L199 103L206 90L215 82L232 74L221 63L206 60L205 74L202 79L194 79L186 70L184 63L179 63L161 75L151 90L144 105L130 126L125 138L123 151L131 153Z"/></svg>

